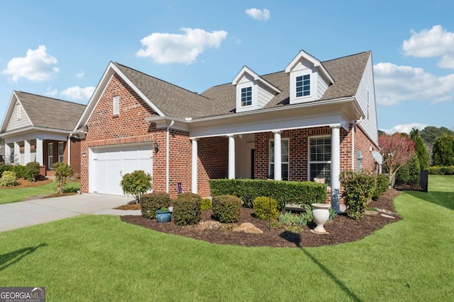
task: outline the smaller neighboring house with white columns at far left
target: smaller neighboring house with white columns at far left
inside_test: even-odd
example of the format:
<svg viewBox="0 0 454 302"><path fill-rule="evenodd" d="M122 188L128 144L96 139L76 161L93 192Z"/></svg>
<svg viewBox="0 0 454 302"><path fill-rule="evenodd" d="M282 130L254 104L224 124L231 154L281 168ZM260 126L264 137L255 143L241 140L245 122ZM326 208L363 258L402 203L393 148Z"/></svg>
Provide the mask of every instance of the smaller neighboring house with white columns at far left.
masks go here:
<svg viewBox="0 0 454 302"><path fill-rule="evenodd" d="M85 105L13 91L0 137L5 163L26 165L37 161L42 175L52 175L52 163L70 163L80 173L80 140L72 134ZM71 142L71 143L70 143Z"/></svg>

